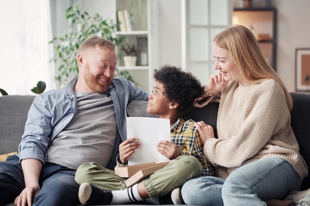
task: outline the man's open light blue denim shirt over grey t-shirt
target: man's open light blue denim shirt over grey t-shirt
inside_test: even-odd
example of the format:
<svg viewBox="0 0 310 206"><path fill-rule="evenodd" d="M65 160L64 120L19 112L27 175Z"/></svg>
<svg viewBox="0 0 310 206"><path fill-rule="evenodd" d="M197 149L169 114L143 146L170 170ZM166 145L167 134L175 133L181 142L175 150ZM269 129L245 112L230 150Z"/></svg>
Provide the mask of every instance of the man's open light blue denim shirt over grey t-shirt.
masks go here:
<svg viewBox="0 0 310 206"><path fill-rule="evenodd" d="M77 78L63 88L44 92L34 99L18 147L20 161L33 158L45 164L49 143L72 120L78 110L77 99L73 91L76 82ZM149 93L122 76L115 77L105 92L112 96L118 130L112 158L107 166L113 169L119 153L118 145L127 138L127 104L132 99L147 101Z"/></svg>

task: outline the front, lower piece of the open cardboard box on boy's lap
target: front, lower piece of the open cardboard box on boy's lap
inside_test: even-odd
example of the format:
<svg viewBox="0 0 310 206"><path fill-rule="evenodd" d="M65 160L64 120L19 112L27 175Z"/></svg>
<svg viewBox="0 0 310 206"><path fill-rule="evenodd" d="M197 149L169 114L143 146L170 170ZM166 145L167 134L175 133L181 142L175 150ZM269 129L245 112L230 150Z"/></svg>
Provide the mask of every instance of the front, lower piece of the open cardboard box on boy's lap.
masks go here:
<svg viewBox="0 0 310 206"><path fill-rule="evenodd" d="M142 180L146 179L147 177L149 177L151 174L153 174L155 171L157 171L158 169L163 168L165 165L168 165L169 162L164 162L164 163L155 163L155 164L151 164L149 166L149 168L144 168L144 169L140 169L138 172L136 172L134 175L132 175L131 177L129 177L126 181L125 184L127 187L131 187L134 184L141 182ZM144 164L143 164L144 165Z"/></svg>

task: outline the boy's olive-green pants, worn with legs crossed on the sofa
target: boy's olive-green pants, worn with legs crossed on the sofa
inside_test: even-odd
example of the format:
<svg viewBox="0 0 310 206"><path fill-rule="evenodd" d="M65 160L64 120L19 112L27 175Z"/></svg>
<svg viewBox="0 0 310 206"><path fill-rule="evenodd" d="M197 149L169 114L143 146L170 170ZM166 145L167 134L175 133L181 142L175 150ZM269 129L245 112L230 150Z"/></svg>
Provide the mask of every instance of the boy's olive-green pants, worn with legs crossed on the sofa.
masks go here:
<svg viewBox="0 0 310 206"><path fill-rule="evenodd" d="M199 161L194 156L181 155L142 182L149 196L157 198L168 194L174 188L181 187L187 180L201 175L202 168ZM75 181L78 184L88 182L107 191L126 189L126 179L97 163L84 163L79 166L75 174Z"/></svg>

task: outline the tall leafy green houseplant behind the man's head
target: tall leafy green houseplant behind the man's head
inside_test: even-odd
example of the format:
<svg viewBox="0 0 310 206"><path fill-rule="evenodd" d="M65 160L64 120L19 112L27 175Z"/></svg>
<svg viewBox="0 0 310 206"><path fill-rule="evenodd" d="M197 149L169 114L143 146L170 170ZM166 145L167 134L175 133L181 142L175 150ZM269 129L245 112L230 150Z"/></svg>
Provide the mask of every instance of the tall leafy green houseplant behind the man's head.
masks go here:
<svg viewBox="0 0 310 206"><path fill-rule="evenodd" d="M58 67L55 80L60 85L78 75L79 69L76 61L77 50L79 45L89 36L97 35L106 38L116 46L120 45L124 40L124 37L121 35L113 35L116 31L116 23L113 23L111 20L104 20L98 13L91 15L86 10L82 11L78 3L70 6L66 10L65 17L69 21L69 31L50 41L54 47L54 55L51 61L55 62L56 67ZM127 71L119 72L116 69L115 75L122 75L134 82Z"/></svg>

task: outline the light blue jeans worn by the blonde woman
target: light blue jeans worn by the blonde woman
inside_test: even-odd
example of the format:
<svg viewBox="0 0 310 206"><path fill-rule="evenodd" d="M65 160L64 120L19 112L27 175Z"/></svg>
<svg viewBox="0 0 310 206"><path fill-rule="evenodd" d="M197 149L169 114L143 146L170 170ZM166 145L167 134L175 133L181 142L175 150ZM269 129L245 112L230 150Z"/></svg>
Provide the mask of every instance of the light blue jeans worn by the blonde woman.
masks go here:
<svg viewBox="0 0 310 206"><path fill-rule="evenodd" d="M188 205L267 206L264 200L283 200L299 190L300 176L286 160L267 158L234 170L227 179L202 176L187 181L181 194Z"/></svg>

